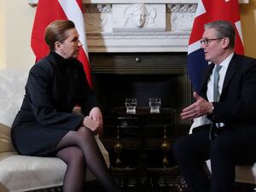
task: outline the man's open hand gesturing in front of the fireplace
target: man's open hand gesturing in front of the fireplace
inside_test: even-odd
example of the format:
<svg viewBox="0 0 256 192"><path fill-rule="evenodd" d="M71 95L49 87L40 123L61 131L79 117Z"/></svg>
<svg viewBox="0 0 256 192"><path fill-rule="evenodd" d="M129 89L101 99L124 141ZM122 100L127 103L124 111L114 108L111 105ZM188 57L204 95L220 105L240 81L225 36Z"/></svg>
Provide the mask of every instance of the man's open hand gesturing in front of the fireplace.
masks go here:
<svg viewBox="0 0 256 192"><path fill-rule="evenodd" d="M198 96L196 92L193 93L193 96L196 102L183 109L180 114L182 119L195 119L212 111L212 102L207 102L207 100Z"/></svg>

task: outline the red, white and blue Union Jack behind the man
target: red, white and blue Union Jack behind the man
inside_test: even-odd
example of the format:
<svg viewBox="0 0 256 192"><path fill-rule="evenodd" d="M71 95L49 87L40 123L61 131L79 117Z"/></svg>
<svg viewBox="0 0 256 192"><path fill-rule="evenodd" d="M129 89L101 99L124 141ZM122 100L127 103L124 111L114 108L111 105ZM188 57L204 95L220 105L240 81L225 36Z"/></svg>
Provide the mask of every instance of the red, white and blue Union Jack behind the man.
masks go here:
<svg viewBox="0 0 256 192"><path fill-rule="evenodd" d="M201 83L201 73L207 66L200 40L204 32L204 24L215 20L228 20L236 28L236 54L243 55L241 21L238 0L199 0L195 20L189 38L187 67L189 78L196 91Z"/></svg>

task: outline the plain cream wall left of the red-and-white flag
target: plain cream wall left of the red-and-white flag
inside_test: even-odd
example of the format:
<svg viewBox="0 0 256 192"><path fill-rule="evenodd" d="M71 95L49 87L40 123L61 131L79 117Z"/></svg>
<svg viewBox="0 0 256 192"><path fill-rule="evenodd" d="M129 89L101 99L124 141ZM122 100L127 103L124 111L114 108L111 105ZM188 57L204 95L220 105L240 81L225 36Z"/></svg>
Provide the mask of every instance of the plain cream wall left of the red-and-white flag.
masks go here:
<svg viewBox="0 0 256 192"><path fill-rule="evenodd" d="M31 67L35 56L30 38L36 9L27 0L0 1L0 68Z"/></svg>

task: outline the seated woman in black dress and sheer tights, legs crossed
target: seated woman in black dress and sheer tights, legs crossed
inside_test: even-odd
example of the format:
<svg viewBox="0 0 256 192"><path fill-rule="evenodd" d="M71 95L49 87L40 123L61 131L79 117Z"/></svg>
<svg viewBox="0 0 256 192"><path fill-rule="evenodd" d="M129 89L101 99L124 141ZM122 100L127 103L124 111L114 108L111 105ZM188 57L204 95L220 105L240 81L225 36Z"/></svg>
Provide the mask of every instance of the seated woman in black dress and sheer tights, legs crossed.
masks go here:
<svg viewBox="0 0 256 192"><path fill-rule="evenodd" d="M52 22L44 39L50 53L30 70L26 95L11 129L15 148L20 154L65 161L64 192L83 190L86 166L107 191L121 191L93 136L102 132L102 112L77 60L82 44L73 21ZM72 113L76 105L88 116Z"/></svg>

